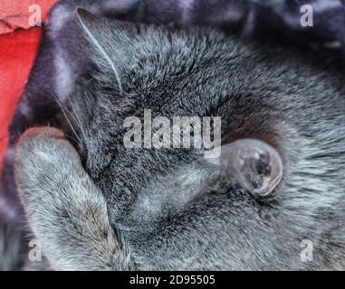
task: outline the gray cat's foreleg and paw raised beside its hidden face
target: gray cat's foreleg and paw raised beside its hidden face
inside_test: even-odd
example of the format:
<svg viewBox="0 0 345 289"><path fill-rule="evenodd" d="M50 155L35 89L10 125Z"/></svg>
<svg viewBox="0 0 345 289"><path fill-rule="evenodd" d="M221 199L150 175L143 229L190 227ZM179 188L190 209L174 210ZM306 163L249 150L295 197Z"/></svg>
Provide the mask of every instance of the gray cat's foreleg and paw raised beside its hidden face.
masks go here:
<svg viewBox="0 0 345 289"><path fill-rule="evenodd" d="M17 144L15 161L15 178L29 225L53 269L122 266L107 204L61 131L26 131Z"/></svg>

